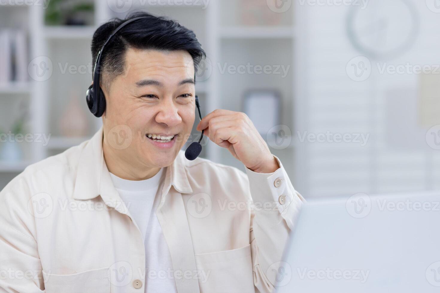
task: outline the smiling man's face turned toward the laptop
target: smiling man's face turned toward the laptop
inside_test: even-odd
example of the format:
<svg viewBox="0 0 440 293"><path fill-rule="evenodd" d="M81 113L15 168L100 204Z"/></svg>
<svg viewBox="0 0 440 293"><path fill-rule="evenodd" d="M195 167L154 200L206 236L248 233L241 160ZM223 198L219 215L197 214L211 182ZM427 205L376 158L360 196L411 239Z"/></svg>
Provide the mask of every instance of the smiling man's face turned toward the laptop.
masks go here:
<svg viewBox="0 0 440 293"><path fill-rule="evenodd" d="M110 89L103 88L104 139L110 147L116 146L111 151L127 163L152 168L169 166L194 124L191 55L187 51L129 48L125 62L125 73L113 80ZM131 143L118 147L129 136Z"/></svg>

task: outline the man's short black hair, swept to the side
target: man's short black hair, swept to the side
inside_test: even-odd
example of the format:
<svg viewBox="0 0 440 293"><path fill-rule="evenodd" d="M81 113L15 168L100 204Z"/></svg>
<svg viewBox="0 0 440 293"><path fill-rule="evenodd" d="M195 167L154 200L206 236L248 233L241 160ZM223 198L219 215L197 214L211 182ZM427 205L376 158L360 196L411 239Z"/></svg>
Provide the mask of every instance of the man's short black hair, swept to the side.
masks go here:
<svg viewBox="0 0 440 293"><path fill-rule="evenodd" d="M147 12L132 12L125 19L113 18L96 29L92 39L92 65L95 65L99 50L110 34L123 22L136 20L119 30L112 40L107 43L101 57L101 79L103 85L109 89L111 81L124 73L125 54L128 48L154 49L158 51L187 51L194 61L194 70L206 57L202 45L198 42L194 32L180 25L177 21L154 16Z"/></svg>

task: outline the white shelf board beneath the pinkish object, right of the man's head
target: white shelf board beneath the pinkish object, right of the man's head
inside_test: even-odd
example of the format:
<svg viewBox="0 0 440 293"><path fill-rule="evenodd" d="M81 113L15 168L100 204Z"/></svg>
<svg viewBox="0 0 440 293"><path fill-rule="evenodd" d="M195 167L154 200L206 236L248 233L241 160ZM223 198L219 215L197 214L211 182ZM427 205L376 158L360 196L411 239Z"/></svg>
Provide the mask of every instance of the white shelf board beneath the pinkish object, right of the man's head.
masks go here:
<svg viewBox="0 0 440 293"><path fill-rule="evenodd" d="M230 26L221 29L220 35L223 39L291 39L295 33L289 26Z"/></svg>

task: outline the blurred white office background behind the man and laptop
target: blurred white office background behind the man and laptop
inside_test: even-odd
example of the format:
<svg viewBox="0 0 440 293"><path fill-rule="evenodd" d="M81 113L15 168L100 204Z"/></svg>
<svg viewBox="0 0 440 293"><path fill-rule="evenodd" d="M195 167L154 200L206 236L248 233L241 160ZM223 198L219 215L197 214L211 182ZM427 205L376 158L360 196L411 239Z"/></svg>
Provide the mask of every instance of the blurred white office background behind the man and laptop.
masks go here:
<svg viewBox="0 0 440 293"><path fill-rule="evenodd" d="M0 188L99 129L92 34L133 10L194 30L202 115L246 112L304 197L440 189L439 0L0 0Z"/></svg>

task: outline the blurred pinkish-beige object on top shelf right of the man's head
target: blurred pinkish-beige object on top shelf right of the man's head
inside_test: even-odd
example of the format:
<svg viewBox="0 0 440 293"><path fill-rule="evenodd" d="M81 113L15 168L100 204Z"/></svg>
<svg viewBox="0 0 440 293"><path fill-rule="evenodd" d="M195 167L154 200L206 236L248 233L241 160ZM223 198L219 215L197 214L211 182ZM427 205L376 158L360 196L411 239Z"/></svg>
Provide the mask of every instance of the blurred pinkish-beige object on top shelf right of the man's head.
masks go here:
<svg viewBox="0 0 440 293"><path fill-rule="evenodd" d="M279 25L281 16L268 8L268 1L279 0L242 0L239 1L240 17L243 25Z"/></svg>

